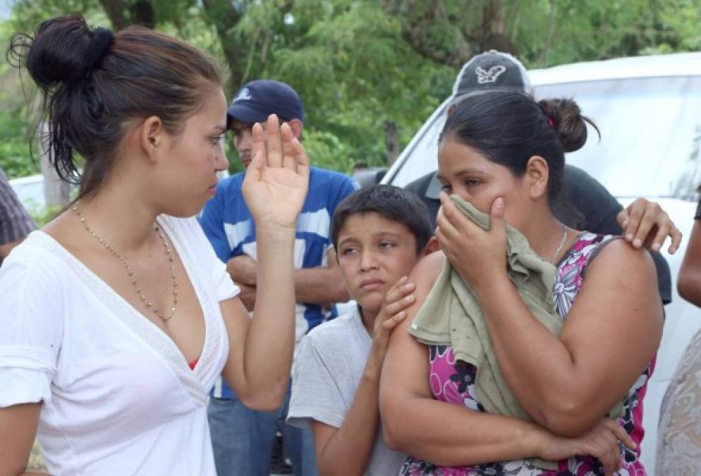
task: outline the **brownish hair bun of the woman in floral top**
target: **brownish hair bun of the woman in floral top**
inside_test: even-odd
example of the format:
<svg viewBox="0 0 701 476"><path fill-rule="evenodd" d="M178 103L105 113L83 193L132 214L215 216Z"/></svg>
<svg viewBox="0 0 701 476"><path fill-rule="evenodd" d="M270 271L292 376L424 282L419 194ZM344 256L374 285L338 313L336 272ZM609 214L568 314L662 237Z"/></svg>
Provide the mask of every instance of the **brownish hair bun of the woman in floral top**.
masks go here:
<svg viewBox="0 0 701 476"><path fill-rule="evenodd" d="M565 152L574 152L585 145L587 123L601 136L596 124L582 115L579 106L572 99L541 99L538 105L551 122Z"/></svg>

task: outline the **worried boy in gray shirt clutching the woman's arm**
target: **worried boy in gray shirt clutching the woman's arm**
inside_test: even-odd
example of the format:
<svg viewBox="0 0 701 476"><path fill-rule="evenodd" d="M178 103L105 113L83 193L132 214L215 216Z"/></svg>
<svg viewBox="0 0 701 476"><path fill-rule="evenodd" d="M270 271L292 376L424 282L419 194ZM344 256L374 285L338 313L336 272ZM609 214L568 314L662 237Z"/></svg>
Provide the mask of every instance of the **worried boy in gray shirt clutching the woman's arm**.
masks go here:
<svg viewBox="0 0 701 476"><path fill-rule="evenodd" d="M437 249L428 210L401 188L363 188L336 208L331 240L358 307L303 339L288 422L312 428L322 475L396 475L406 455L382 439L379 376L389 334L413 303L406 276Z"/></svg>

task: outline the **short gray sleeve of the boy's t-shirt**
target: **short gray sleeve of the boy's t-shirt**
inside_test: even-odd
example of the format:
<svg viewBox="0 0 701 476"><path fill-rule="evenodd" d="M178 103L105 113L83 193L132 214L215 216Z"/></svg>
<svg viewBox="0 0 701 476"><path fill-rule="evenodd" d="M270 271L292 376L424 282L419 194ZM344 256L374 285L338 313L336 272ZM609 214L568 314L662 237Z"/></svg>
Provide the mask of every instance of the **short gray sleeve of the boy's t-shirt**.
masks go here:
<svg viewBox="0 0 701 476"><path fill-rule="evenodd" d="M349 402L334 371L324 362L315 341L306 336L300 344L292 374L292 396L287 421L296 427L310 427L312 420L339 428ZM352 399L353 396L351 395Z"/></svg>

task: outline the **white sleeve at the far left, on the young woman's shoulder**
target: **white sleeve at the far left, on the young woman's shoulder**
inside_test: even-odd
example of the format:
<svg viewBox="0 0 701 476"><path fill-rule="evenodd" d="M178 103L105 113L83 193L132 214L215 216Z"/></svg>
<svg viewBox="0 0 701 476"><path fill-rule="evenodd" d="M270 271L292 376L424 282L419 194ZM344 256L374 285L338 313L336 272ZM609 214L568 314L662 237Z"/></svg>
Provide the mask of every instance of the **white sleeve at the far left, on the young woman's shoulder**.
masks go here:
<svg viewBox="0 0 701 476"><path fill-rule="evenodd" d="M50 263L18 247L0 267L0 408L51 400L65 310Z"/></svg>

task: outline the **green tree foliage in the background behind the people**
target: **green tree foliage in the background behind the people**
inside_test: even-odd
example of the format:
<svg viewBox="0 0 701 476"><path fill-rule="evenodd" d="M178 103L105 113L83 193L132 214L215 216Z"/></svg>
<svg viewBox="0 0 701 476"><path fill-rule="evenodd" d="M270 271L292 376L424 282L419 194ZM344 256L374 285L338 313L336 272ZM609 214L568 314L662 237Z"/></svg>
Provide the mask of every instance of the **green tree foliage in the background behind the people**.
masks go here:
<svg viewBox="0 0 701 476"><path fill-rule="evenodd" d="M346 172L385 164L385 131L396 125L406 145L484 49L529 68L701 49L701 0L17 0L0 35L73 12L209 51L228 65L228 97L255 78L290 83L305 102L312 161ZM0 68L0 166L12 176L36 170L16 77Z"/></svg>

